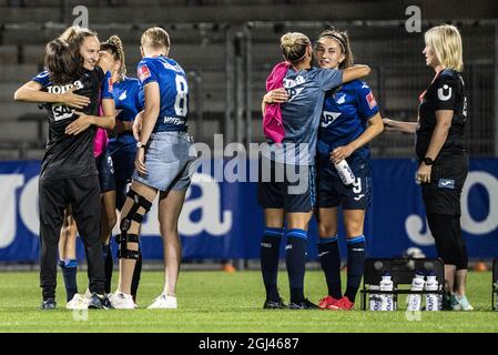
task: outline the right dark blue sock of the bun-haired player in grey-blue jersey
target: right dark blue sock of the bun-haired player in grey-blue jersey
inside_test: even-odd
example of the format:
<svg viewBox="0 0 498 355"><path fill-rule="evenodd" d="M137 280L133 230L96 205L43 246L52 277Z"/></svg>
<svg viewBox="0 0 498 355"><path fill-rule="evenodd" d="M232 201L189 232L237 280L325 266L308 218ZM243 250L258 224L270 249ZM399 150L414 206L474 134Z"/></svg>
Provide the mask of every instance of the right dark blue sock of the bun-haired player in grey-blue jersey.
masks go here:
<svg viewBox="0 0 498 355"><path fill-rule="evenodd" d="M291 302L304 301L304 273L307 256L307 232L293 229L285 233L285 264L287 266L288 285L291 286Z"/></svg>

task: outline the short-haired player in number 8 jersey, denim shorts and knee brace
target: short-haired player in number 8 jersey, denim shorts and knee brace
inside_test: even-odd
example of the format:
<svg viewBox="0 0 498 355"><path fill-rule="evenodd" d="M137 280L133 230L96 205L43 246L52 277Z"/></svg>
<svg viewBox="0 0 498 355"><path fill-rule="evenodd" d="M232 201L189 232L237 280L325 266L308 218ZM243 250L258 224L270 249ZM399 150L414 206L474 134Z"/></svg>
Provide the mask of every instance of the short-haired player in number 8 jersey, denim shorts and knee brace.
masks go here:
<svg viewBox="0 0 498 355"><path fill-rule="evenodd" d="M159 221L164 243L165 285L150 308L176 308L175 287L181 262L177 220L191 183L195 150L186 133L189 87L183 69L167 58L170 37L150 28L141 39L138 75L144 91L144 111L135 119L140 131L135 172L121 211L119 241L120 287L116 308L133 308L131 283L139 258L139 232L144 214L159 192Z"/></svg>

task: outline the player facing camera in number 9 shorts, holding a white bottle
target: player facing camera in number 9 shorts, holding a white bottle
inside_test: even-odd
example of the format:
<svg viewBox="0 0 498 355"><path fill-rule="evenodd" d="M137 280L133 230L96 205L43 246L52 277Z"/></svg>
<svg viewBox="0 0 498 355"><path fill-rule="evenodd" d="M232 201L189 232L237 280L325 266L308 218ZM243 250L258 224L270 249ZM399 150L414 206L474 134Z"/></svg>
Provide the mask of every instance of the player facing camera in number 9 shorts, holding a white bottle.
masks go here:
<svg viewBox="0 0 498 355"><path fill-rule="evenodd" d="M328 30L319 36L316 59L321 68L346 69L353 53L346 32ZM384 130L378 105L369 87L359 80L327 92L318 130L317 220L318 255L328 286L322 308L352 310L363 277L364 221L370 199L368 143ZM344 185L334 163L346 160L355 181ZM347 287L341 290L337 213L342 206L347 243Z"/></svg>

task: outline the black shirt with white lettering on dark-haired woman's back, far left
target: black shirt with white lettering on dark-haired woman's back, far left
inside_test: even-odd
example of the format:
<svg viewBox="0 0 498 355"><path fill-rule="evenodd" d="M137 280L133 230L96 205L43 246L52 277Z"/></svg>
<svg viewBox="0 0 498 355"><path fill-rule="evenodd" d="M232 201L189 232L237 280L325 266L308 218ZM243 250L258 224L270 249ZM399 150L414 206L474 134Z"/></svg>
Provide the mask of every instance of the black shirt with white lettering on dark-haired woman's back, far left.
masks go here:
<svg viewBox="0 0 498 355"><path fill-rule="evenodd" d="M90 103L82 110L89 115L98 115L100 90L105 74L100 67L85 70L80 79L68 84L52 84L48 82L43 91L63 93L75 87L74 93L87 97ZM95 126L92 125L78 135L65 134L65 128L78 115L74 109L60 103L44 104L49 113L49 140L41 163L40 179L68 179L98 175L95 159L93 158L93 140Z"/></svg>

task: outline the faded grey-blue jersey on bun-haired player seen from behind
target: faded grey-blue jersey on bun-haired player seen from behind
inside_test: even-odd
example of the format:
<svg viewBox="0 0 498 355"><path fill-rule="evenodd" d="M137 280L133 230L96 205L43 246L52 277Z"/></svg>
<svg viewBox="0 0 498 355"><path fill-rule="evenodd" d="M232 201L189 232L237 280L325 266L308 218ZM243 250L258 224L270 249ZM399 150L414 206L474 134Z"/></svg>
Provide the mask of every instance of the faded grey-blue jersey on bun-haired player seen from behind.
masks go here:
<svg viewBox="0 0 498 355"><path fill-rule="evenodd" d="M288 101L281 105L285 136L282 151L272 160L297 165L313 165L316 154L316 136L324 104L325 92L341 85L342 72L334 69L289 69L284 78ZM299 145L305 144L305 145ZM278 145L274 145L280 150ZM303 150L304 149L304 150Z"/></svg>

